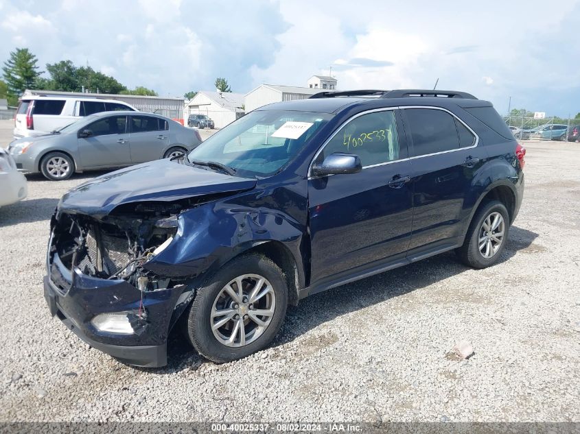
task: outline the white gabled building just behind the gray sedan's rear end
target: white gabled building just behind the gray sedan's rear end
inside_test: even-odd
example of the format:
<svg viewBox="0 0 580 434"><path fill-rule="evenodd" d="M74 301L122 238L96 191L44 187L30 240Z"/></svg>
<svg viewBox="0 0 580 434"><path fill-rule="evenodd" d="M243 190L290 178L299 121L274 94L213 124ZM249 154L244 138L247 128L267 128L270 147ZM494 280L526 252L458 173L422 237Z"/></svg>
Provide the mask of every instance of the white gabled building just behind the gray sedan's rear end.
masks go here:
<svg viewBox="0 0 580 434"><path fill-rule="evenodd" d="M232 92L200 91L185 103L185 121L189 114L205 114L216 128L224 128L244 116L244 95Z"/></svg>

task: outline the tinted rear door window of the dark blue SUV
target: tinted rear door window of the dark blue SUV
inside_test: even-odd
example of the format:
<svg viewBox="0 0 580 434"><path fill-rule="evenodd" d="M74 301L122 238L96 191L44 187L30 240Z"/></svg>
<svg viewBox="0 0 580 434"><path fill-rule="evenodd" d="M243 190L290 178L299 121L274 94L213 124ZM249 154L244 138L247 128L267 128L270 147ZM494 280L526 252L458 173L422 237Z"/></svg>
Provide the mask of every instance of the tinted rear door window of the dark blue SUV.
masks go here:
<svg viewBox="0 0 580 434"><path fill-rule="evenodd" d="M405 114L413 138L411 156L459 149L455 118L448 112L432 108L407 108Z"/></svg>

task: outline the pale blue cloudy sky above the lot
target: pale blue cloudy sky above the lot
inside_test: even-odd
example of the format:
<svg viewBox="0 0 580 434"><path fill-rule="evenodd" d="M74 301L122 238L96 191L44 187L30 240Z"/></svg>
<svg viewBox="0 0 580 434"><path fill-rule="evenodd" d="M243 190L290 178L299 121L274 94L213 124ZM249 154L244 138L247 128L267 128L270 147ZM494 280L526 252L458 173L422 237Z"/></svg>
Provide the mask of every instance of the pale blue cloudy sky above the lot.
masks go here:
<svg viewBox="0 0 580 434"><path fill-rule="evenodd" d="M580 3L545 1L0 0L0 60L27 47L87 62L127 86L181 96L226 77L233 91L305 86L456 89L502 114L580 112Z"/></svg>

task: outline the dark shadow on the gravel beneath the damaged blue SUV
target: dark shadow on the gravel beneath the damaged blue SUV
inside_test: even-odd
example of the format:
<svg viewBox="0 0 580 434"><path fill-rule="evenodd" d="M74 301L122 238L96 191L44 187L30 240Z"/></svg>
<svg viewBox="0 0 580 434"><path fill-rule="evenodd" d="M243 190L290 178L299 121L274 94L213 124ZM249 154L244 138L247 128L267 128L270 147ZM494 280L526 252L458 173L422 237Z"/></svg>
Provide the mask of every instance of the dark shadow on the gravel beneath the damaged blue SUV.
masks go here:
<svg viewBox="0 0 580 434"><path fill-rule="evenodd" d="M509 243L499 263L509 260L520 250L529 249L537 236L535 232L512 226L509 232ZM340 315L402 296L471 269L460 263L454 252L446 252L424 261L314 294L301 300L297 307L288 306L286 320L271 347L278 347L293 341L308 330L334 320ZM136 369L151 374L173 374L185 369L197 370L203 363L212 363L193 350L177 329L178 327L175 327L172 330L168 339L167 366L159 369Z"/></svg>

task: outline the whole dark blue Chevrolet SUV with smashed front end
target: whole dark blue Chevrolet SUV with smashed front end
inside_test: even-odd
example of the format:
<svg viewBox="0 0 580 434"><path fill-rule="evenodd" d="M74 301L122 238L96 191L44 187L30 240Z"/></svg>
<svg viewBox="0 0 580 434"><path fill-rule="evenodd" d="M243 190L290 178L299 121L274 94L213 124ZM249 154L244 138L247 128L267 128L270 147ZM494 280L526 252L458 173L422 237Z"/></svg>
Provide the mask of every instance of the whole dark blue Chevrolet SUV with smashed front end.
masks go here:
<svg viewBox="0 0 580 434"><path fill-rule="evenodd" d="M240 359L314 293L448 250L475 268L499 261L524 154L491 104L467 93L270 104L183 158L65 194L45 298L126 363L165 365L174 327L212 361Z"/></svg>

